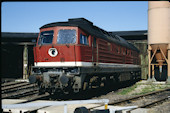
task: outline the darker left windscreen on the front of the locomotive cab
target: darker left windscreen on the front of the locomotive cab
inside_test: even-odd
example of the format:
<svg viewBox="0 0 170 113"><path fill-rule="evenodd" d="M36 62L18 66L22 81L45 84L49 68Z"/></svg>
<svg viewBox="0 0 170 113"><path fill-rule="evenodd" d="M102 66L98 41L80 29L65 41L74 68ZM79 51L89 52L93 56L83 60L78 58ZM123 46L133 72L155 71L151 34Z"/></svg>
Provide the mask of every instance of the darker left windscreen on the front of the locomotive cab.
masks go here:
<svg viewBox="0 0 170 113"><path fill-rule="evenodd" d="M43 31L40 34L38 45L52 44L54 31Z"/></svg>

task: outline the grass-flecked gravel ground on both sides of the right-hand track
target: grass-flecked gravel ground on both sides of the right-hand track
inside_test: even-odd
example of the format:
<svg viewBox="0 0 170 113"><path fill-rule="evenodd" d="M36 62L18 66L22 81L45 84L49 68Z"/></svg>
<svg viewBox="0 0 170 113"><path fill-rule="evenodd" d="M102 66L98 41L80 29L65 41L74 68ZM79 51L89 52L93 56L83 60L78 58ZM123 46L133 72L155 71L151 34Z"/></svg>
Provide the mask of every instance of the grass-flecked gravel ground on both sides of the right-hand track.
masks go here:
<svg viewBox="0 0 170 113"><path fill-rule="evenodd" d="M166 84L166 82L151 83L147 81L139 81L130 87L112 91L106 95L94 97L93 99L109 99L109 102L111 103L117 100L122 100L165 88L170 88L170 84ZM160 105L153 107L152 109L150 108L149 111L149 113L170 113L170 101L168 100Z"/></svg>

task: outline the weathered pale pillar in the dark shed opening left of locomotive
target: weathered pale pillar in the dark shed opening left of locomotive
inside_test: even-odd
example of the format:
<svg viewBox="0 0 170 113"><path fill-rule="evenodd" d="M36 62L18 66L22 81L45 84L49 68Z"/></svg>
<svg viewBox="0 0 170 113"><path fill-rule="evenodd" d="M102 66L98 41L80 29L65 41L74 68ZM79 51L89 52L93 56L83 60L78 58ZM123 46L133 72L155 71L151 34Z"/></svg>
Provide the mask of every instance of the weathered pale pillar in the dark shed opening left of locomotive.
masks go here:
<svg viewBox="0 0 170 113"><path fill-rule="evenodd" d="M28 47L24 45L23 51L23 79L28 78Z"/></svg>

